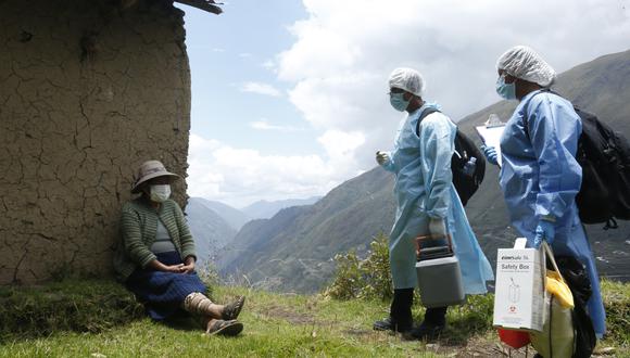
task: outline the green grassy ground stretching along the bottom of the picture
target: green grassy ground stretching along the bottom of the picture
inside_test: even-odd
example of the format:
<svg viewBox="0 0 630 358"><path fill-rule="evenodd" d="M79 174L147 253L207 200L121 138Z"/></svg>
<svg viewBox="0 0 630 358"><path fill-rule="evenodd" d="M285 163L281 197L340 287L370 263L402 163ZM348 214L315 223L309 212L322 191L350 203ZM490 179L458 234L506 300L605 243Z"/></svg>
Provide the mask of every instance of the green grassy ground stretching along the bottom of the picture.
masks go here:
<svg viewBox="0 0 630 358"><path fill-rule="evenodd" d="M245 309L240 317L245 324L242 335L236 338L206 336L193 322L165 325L147 318L137 318L136 306L126 301L125 297L128 296L125 296L122 287L102 281L59 284L54 290L39 290L43 293L38 294L33 290L27 290L27 293L0 291L0 304L3 306L3 310L0 309L0 319L4 322L0 323L0 328L9 330L11 325L7 323L7 316L2 315L12 310L11 305L25 309L23 305L26 297L39 295L37 299L46 305L46 296L51 292L56 291L58 296L53 298L59 299L62 296L72 296L59 292L75 294L77 291L88 290L87 287L91 287L89 290L93 293L88 295L91 297L88 299L90 302L102 294L106 298L109 292L110 295L121 296L119 299L125 304L118 302L115 305L83 305L80 310L84 316L100 312L99 315L105 317L94 318L98 324L86 329L85 324L73 327L74 321L83 321L84 318L75 319L74 315L79 312L67 308L77 306L78 298L72 305L66 304L73 298L64 299L65 304L53 302L52 306L62 308L61 312L66 315L66 319L53 319L51 311L48 317L52 323L46 332L33 330L33 327L37 327L34 323L46 322L34 318L35 316L30 316L30 320L23 320L23 330L16 331L17 333L0 332L0 357L501 357L507 354L497 344L496 335L490 328L490 295L472 297L468 305L450 309L448 330L441 338L432 343L408 342L403 341L400 335L373 331L371 322L387 315L388 303L338 302L319 296L272 294L239 287L217 287L214 296L218 302L239 294L248 296ZM604 283L607 305L617 307L609 314L613 319L609 324L621 331L615 330L610 338L600 346L613 347L608 353L615 357L630 357L629 287L630 285ZM110 296L110 302L112 301ZM131 319L109 324L116 309L127 309ZM415 315L419 317L421 312L417 309ZM54 329L55 324L58 329ZM524 357L524 353L513 351L512 356Z"/></svg>

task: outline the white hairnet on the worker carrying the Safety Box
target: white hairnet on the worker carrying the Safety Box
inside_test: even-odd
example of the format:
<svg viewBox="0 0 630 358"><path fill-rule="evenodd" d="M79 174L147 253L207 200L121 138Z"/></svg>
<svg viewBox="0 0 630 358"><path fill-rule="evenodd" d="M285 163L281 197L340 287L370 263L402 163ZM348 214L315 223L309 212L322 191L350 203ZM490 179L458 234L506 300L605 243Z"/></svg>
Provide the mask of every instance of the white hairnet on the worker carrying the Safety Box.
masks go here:
<svg viewBox="0 0 630 358"><path fill-rule="evenodd" d="M552 66L527 46L516 46L507 50L496 61L496 68L542 87L551 86L556 78L556 72Z"/></svg>

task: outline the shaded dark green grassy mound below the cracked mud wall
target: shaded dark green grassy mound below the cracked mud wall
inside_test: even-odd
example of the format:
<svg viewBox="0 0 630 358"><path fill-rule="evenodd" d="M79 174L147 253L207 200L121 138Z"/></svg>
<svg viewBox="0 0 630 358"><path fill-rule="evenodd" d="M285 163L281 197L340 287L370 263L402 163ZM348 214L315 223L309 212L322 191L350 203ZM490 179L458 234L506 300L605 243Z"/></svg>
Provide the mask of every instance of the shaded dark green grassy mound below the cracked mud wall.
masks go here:
<svg viewBox="0 0 630 358"><path fill-rule="evenodd" d="M113 280L0 287L0 343L58 332L98 333L141 318L142 305Z"/></svg>

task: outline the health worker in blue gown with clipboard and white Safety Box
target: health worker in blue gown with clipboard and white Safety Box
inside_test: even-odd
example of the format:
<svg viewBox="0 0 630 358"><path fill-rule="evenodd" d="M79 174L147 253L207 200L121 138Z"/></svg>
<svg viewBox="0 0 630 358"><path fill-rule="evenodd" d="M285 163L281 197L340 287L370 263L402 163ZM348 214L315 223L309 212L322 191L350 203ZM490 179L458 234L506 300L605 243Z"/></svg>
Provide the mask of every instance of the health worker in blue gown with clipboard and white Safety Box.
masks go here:
<svg viewBox="0 0 630 358"><path fill-rule="evenodd" d="M546 90L556 74L532 49L509 49L496 67L496 92L520 102L501 138L500 183L511 220L530 247L544 240L554 255L572 256L585 266L593 291L588 311L601 338L606 315L600 280L575 201L582 181L575 157L580 117L569 101ZM494 148L482 150L490 163L497 163Z"/></svg>

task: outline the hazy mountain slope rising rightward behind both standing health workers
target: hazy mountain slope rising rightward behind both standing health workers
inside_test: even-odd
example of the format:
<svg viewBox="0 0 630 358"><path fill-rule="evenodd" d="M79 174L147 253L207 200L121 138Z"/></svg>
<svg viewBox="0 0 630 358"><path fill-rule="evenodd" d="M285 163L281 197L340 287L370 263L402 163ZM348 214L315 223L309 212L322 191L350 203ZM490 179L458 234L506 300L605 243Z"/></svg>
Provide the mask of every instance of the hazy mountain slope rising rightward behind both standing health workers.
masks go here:
<svg viewBox="0 0 630 358"><path fill-rule="evenodd" d="M629 81L627 51L562 74L556 90L630 138ZM463 118L459 126L477 140L474 126L491 113L505 120L515 105L516 102L499 102ZM480 245L494 261L496 248L509 246L516 232L509 227L499 171L492 165L488 167L486 180L466 210ZM392 187L392 176L375 168L342 183L315 205L252 221L225 247L219 269L223 274L245 274L269 289L316 291L330 278L336 254L351 248L364 252L374 235L389 232L394 216ZM604 231L601 227L588 227L601 273L628 279L630 221L620 222L618 230Z"/></svg>

